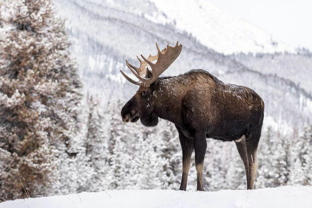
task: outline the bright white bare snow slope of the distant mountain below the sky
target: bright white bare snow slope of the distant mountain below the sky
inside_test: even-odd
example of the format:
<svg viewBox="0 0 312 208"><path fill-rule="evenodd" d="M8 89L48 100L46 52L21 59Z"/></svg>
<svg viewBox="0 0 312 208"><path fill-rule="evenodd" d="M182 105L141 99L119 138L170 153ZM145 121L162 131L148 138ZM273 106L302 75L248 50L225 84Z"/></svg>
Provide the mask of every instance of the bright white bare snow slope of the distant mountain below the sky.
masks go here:
<svg viewBox="0 0 312 208"><path fill-rule="evenodd" d="M285 44L240 18L220 11L205 0L151 0L182 31L192 34L203 45L218 52L292 51ZM157 16L159 17L159 16ZM161 22L162 20L160 20Z"/></svg>

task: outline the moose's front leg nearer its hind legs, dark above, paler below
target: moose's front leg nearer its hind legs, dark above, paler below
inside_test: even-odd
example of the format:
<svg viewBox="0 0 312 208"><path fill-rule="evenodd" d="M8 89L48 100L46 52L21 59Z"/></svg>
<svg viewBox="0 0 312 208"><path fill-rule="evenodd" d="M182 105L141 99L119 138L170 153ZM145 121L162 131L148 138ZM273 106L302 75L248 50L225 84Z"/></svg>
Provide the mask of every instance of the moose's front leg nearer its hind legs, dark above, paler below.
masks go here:
<svg viewBox="0 0 312 208"><path fill-rule="evenodd" d="M197 131L194 136L195 166L197 172L197 190L203 191L203 168L207 149L206 131Z"/></svg>

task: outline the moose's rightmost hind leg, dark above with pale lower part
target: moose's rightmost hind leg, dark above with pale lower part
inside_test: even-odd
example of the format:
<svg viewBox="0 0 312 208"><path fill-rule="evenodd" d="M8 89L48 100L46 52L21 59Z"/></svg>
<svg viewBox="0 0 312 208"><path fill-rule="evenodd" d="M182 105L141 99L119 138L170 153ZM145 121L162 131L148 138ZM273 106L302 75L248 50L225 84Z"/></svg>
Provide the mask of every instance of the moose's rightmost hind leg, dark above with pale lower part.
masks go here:
<svg viewBox="0 0 312 208"><path fill-rule="evenodd" d="M257 171L257 150L258 150L260 135L261 135L260 131L251 132L250 136L246 139L248 171L249 171L247 189L253 189L254 187L254 181L255 181L256 171Z"/></svg>

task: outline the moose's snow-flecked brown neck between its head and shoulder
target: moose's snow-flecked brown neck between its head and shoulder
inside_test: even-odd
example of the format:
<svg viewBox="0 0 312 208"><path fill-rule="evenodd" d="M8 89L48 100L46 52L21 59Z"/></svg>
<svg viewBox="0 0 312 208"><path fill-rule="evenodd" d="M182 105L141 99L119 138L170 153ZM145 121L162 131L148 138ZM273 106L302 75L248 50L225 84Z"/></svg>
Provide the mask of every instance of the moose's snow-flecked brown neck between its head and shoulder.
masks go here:
<svg viewBox="0 0 312 208"><path fill-rule="evenodd" d="M178 77L159 78L153 93L156 106L154 112L158 117L178 125L181 123L183 89Z"/></svg>

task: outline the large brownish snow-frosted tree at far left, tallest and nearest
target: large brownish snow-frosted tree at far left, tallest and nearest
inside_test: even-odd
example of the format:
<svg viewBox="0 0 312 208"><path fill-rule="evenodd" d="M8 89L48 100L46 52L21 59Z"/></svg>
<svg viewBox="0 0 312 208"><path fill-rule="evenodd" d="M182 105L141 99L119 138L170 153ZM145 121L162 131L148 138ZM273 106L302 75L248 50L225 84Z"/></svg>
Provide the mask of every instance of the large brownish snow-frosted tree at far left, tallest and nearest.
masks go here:
<svg viewBox="0 0 312 208"><path fill-rule="evenodd" d="M1 197L24 197L23 178L31 196L57 192L81 99L68 46L51 1L0 2Z"/></svg>

